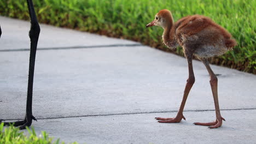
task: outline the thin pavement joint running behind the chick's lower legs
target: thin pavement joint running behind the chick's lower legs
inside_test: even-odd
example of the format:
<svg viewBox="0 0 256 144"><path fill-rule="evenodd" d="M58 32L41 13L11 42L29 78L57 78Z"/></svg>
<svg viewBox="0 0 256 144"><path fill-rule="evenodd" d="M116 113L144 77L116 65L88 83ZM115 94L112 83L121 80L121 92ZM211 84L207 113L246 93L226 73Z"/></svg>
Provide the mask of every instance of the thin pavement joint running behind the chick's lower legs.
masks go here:
<svg viewBox="0 0 256 144"><path fill-rule="evenodd" d="M256 108L222 109L220 111L239 111L239 110L256 110ZM184 112L200 112L200 111L215 111L215 110L184 110ZM77 118L77 117L119 116L119 115L137 115L137 114L166 113L166 112L178 112L178 111L150 111L150 112L131 112L131 113L109 113L109 114L102 114L102 115L48 117L48 118L37 118L37 119L60 119L60 118ZM22 119L5 119L4 121L17 121L17 120L22 120Z"/></svg>

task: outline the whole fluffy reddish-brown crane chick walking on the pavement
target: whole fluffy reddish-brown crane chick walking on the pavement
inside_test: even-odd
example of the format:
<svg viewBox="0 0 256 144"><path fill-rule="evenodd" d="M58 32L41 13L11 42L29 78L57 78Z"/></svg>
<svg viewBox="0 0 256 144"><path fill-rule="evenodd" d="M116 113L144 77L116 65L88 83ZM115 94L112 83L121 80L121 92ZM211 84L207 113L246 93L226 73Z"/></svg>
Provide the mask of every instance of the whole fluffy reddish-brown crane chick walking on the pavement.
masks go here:
<svg viewBox="0 0 256 144"><path fill-rule="evenodd" d="M181 45L185 57L188 60L189 78L184 90L182 104L175 118L156 117L160 123L177 123L181 122L185 102L187 100L190 89L195 82L195 76L192 65L193 55L205 64L210 74L210 84L216 108L216 121L211 123L194 123L196 125L208 125L210 128L218 128L225 119L220 115L218 92L217 92L217 76L213 73L207 58L223 55L226 51L232 49L236 45L236 41L231 39L231 34L223 27L212 21L209 17L202 15L191 15L183 17L177 22L173 22L170 11L160 10L155 15L155 20L148 23L146 27L161 26L164 28L162 39L167 47L173 48Z"/></svg>

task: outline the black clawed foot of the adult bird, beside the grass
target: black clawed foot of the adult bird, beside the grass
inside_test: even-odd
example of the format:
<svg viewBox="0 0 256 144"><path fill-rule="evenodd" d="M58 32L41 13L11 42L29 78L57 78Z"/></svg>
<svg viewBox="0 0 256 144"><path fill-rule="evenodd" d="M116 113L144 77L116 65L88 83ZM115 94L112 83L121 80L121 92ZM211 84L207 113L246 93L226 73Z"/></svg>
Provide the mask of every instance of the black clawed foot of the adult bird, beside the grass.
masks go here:
<svg viewBox="0 0 256 144"><path fill-rule="evenodd" d="M18 127L19 129L25 129L26 127L30 127L32 124L32 120L37 121L37 119L32 115L26 114L26 117L23 121L16 121L16 122L3 122L4 125L9 126L13 125L14 127ZM0 119L0 123L4 121L3 119Z"/></svg>

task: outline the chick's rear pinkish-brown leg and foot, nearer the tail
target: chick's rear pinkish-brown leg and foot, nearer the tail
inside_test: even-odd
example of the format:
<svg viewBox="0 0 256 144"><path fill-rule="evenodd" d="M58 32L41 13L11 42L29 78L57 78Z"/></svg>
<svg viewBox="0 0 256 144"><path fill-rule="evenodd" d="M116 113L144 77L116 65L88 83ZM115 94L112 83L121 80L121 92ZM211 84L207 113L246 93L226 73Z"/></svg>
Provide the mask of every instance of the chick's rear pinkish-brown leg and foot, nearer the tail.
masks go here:
<svg viewBox="0 0 256 144"><path fill-rule="evenodd" d="M213 94L213 100L215 105L215 111L216 111L216 121L210 122L210 123L194 123L195 125L206 125L211 126L209 128L218 128L222 126L222 120L225 121L225 119L220 115L220 109L219 109L219 101L218 101L218 79L217 76L213 73L209 62L205 58L201 58L201 61L203 64L205 64L205 67L210 74L210 84L212 88L212 94Z"/></svg>

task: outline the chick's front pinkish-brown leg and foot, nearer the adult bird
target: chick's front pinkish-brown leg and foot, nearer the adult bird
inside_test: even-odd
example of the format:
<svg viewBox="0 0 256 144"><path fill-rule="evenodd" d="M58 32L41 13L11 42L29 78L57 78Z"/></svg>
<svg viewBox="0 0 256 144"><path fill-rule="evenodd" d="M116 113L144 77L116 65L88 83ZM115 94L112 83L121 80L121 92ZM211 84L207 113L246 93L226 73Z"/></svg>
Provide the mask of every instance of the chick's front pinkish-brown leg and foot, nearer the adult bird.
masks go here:
<svg viewBox="0 0 256 144"><path fill-rule="evenodd" d="M195 82L195 76L194 76L193 65L192 65L192 56L187 57L187 61L188 61L188 68L189 68L189 78L188 78L187 84L185 86L182 103L181 103L181 106L179 107L177 116L175 118L156 117L155 119L160 120L160 121L158 121L160 123L178 123L178 122L181 122L182 118L185 119L185 117L183 116L184 106L185 106L186 100L188 98L190 89L192 88L192 86Z"/></svg>

